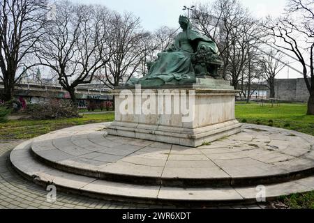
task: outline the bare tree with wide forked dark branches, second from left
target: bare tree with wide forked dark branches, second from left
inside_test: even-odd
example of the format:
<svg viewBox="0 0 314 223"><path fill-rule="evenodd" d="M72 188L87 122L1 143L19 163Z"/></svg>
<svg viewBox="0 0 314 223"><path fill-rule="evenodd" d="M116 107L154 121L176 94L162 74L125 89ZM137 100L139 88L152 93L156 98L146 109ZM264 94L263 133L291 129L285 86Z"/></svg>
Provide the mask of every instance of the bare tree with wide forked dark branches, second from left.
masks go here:
<svg viewBox="0 0 314 223"><path fill-rule="evenodd" d="M75 88L89 84L100 68L109 61L106 54L107 8L59 1L56 20L45 26L38 45L40 64L57 73L58 81L77 102ZM106 58L106 59L105 59Z"/></svg>

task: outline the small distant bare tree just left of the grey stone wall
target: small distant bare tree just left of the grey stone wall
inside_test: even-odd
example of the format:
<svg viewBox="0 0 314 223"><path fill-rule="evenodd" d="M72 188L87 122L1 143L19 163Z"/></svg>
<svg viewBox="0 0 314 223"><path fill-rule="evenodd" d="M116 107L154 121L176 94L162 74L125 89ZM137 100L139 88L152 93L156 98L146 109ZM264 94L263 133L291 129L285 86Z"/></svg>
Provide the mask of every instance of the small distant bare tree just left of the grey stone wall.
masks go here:
<svg viewBox="0 0 314 223"><path fill-rule="evenodd" d="M266 79L267 87L270 91L270 97L275 98L275 78L283 68L285 68L285 64L281 63L283 59L283 54L280 52L275 52L271 49L268 54L260 57L260 68L261 73Z"/></svg>

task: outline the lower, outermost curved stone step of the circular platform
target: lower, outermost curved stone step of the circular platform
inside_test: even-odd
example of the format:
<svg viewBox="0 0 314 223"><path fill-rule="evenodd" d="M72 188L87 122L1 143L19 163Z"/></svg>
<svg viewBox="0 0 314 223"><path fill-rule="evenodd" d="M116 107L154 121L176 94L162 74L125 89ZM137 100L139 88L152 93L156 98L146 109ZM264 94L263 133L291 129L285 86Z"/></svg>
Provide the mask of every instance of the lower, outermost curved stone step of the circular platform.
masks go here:
<svg viewBox="0 0 314 223"><path fill-rule="evenodd" d="M116 183L52 169L36 160L30 153L33 140L25 141L10 153L10 162L22 176L38 185L55 185L57 191L84 194L119 201L144 203L255 203L263 187L166 187ZM260 188L260 189L259 189ZM267 200L275 197L314 190L314 176L286 183L264 185Z"/></svg>

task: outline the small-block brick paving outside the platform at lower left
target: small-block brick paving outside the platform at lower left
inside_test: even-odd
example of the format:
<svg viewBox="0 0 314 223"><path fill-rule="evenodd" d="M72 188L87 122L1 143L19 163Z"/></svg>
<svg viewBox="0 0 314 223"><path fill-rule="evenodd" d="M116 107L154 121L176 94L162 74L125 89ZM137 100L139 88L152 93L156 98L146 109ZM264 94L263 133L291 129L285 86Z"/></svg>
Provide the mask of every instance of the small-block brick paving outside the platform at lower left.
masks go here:
<svg viewBox="0 0 314 223"><path fill-rule="evenodd" d="M78 196L57 192L57 201L47 202L47 191L43 187L35 185L22 178L10 166L8 156L10 151L20 144L22 140L0 140L0 208L79 208L79 209L114 209L114 208L176 208L174 206L152 206L139 203L124 203L114 201L104 201L91 199L89 197ZM237 206L216 206L210 208L239 208L239 209L264 209L264 204L260 205L237 205Z"/></svg>

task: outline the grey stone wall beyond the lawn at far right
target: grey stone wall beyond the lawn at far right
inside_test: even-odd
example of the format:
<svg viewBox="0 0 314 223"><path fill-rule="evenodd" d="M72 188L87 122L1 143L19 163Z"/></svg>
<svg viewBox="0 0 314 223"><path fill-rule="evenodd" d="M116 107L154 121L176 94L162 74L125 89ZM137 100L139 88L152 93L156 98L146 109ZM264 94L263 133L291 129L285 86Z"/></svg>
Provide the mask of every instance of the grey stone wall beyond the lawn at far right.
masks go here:
<svg viewBox="0 0 314 223"><path fill-rule="evenodd" d="M275 79L275 92L277 100L294 102L307 102L309 93L303 78ZM267 98L269 98L267 91Z"/></svg>

